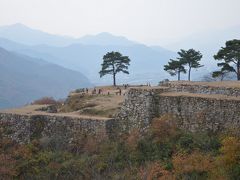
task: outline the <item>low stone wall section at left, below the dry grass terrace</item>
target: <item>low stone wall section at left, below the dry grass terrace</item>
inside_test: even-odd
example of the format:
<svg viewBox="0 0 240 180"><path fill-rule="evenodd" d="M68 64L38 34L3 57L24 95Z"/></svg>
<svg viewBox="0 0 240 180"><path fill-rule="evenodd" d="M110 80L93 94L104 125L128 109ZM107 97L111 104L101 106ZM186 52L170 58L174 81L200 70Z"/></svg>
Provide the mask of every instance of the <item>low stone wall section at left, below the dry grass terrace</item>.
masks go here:
<svg viewBox="0 0 240 180"><path fill-rule="evenodd" d="M48 115L0 114L4 135L19 143L37 138L58 138L62 143L71 143L81 135L108 136L112 119L86 119Z"/></svg>

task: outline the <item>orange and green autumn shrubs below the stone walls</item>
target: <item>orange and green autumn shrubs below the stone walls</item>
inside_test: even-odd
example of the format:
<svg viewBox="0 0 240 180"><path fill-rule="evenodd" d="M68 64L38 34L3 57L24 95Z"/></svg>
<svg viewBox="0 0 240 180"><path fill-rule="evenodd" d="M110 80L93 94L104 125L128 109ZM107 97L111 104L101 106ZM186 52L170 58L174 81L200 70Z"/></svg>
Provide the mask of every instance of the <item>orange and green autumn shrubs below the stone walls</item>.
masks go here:
<svg viewBox="0 0 240 180"><path fill-rule="evenodd" d="M2 128L5 126L1 126ZM1 132L4 132L2 130ZM34 139L20 145L0 133L0 179L238 179L240 138L184 132L174 117L121 137Z"/></svg>

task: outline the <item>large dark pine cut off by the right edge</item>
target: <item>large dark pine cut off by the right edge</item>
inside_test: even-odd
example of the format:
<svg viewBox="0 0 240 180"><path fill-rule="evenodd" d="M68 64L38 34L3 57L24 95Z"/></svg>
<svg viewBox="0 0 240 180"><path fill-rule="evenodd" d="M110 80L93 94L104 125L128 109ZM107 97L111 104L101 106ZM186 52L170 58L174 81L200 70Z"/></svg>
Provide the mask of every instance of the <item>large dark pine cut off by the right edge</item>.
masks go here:
<svg viewBox="0 0 240 180"><path fill-rule="evenodd" d="M240 80L240 40L230 40L226 42L226 47L222 47L214 59L222 61L218 63L221 67L217 72L235 72L237 79ZM215 72L216 74L216 72Z"/></svg>

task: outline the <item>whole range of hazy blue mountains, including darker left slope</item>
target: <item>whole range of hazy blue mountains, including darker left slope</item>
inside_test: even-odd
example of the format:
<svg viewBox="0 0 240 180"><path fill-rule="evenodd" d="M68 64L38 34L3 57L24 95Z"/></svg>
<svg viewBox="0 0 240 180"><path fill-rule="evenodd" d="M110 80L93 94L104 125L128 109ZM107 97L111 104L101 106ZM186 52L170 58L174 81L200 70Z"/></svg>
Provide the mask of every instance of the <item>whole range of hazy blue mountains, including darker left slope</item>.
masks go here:
<svg viewBox="0 0 240 180"><path fill-rule="evenodd" d="M42 96L64 97L72 89L91 83L111 84L111 76L100 79L98 74L102 57L109 51L119 51L131 59L130 74L118 74L118 84L157 84L175 78L163 70L169 59L177 57L174 51L195 48L204 57L205 66L192 74L199 80L217 68L212 56L231 39L240 39L240 26L193 35L166 48L106 32L72 38L22 24L0 26L0 108L19 106Z"/></svg>

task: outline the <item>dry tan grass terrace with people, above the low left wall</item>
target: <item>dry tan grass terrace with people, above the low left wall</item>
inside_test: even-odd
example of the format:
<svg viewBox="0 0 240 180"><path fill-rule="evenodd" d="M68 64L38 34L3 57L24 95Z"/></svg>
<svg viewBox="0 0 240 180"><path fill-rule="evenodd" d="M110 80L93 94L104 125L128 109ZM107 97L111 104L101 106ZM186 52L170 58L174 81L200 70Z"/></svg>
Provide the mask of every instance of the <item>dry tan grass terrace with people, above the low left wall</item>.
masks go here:
<svg viewBox="0 0 240 180"><path fill-rule="evenodd" d="M2 113L14 113L21 115L49 115L49 116L70 116L73 118L87 118L106 120L114 117L120 110L123 103L123 94L126 90L121 87L122 95L116 95L119 92L118 87L97 87L102 89L101 94L92 94L93 89L89 89L89 93L70 93L67 100L63 103L56 104L57 113L48 113L37 111L46 108L49 104L55 103L51 98L42 98L30 106L24 106L16 109L1 110Z"/></svg>

